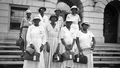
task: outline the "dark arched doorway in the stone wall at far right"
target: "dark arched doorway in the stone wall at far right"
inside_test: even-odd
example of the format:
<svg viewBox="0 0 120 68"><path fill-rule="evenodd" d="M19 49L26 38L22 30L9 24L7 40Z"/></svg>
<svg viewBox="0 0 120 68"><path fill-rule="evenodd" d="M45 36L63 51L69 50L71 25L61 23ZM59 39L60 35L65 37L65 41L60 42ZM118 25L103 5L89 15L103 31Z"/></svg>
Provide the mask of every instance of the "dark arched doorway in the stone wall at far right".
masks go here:
<svg viewBox="0 0 120 68"><path fill-rule="evenodd" d="M104 12L103 34L105 43L117 43L119 13L113 4L115 5L115 2L108 4Z"/></svg>

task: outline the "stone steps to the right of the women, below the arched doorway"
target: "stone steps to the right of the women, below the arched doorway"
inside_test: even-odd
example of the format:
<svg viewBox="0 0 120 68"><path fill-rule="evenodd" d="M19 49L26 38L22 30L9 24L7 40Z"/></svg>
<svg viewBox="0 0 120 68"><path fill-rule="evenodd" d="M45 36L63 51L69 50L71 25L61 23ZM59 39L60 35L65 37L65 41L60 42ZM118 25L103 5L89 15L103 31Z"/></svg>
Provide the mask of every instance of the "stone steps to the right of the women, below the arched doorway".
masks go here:
<svg viewBox="0 0 120 68"><path fill-rule="evenodd" d="M120 44L100 44L94 50L95 68L120 68Z"/></svg>

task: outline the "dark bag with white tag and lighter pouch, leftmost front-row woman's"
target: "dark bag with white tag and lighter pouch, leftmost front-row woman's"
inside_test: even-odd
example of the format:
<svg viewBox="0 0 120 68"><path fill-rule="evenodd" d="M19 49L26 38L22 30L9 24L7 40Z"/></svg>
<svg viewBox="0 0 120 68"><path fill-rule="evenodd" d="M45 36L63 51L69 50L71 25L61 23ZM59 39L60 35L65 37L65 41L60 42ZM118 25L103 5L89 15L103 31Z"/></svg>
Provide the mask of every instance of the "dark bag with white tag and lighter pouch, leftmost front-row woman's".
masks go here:
<svg viewBox="0 0 120 68"><path fill-rule="evenodd" d="M26 48L24 60L39 61L40 53L36 52L31 46Z"/></svg>

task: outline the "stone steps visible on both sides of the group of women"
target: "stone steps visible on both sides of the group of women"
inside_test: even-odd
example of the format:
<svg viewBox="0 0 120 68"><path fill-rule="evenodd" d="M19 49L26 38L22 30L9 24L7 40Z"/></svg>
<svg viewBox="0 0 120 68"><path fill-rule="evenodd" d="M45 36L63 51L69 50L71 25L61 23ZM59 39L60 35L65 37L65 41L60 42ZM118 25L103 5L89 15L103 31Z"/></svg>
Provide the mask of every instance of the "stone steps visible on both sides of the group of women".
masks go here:
<svg viewBox="0 0 120 68"><path fill-rule="evenodd" d="M22 68L21 50L15 40L0 42L0 68ZM120 68L120 44L97 44L94 68Z"/></svg>

